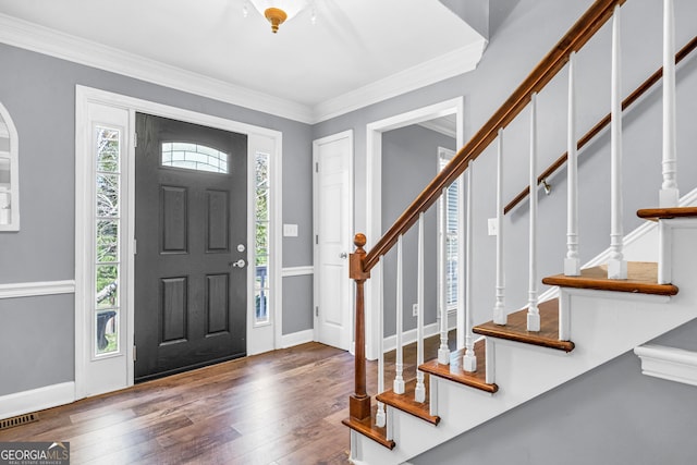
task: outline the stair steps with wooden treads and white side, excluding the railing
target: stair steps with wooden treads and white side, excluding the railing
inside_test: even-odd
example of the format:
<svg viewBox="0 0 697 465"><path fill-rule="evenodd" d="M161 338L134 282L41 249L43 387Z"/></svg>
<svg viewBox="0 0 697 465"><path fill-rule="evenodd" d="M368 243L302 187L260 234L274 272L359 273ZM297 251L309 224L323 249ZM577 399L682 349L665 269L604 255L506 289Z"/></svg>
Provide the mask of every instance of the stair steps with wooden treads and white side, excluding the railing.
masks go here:
<svg viewBox="0 0 697 465"><path fill-rule="evenodd" d="M541 320L548 321L541 331L526 330L527 308L509 315L504 327L492 321L476 326L474 332L486 336L475 343L476 372L462 371L457 366L462 351L456 351L451 365L430 360L420 366L430 378L427 402L413 401L409 386L415 380L407 382L402 395L393 391L379 394L377 401L388 405L388 421L392 423L389 436L387 428L366 430L351 418L345 420L358 432L352 435L354 463L403 463L697 318L697 208L668 209L665 215L673 218L659 218L636 248L658 247L655 229L670 230L664 241L671 252L661 255L659 264L672 262L673 282L684 283L682 289L659 284L656 262L631 261L626 281L607 279L604 267L583 270L582 277L545 278L542 281L559 286L560 296L539 305ZM568 314L572 341L557 336L560 306ZM496 383L484 379L485 359L488 369L496 370ZM375 424L375 408L371 420ZM388 437L399 438L400 446Z"/></svg>

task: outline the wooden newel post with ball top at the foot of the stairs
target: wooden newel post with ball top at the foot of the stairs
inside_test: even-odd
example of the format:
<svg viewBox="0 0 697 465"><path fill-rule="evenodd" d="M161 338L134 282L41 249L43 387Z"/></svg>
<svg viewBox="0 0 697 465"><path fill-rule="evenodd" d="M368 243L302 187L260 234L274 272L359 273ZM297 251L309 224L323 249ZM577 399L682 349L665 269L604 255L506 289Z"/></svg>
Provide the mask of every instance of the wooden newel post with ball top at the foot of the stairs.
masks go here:
<svg viewBox="0 0 697 465"><path fill-rule="evenodd" d="M348 277L356 282L356 354L355 363L355 392L348 397L348 414L356 419L364 419L370 416L370 396L366 392L366 319L363 287L370 271L363 269L366 257L365 234L356 234L353 241L356 250L351 254L348 261Z"/></svg>

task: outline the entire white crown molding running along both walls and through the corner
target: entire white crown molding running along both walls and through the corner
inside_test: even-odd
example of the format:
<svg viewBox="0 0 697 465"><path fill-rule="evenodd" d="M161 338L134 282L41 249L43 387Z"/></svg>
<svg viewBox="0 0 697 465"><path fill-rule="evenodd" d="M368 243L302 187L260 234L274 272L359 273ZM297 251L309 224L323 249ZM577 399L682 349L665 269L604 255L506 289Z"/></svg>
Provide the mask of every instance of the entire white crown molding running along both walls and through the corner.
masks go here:
<svg viewBox="0 0 697 465"><path fill-rule="evenodd" d="M148 83L315 124L476 69L487 40L309 107L204 76L0 13L0 42Z"/></svg>

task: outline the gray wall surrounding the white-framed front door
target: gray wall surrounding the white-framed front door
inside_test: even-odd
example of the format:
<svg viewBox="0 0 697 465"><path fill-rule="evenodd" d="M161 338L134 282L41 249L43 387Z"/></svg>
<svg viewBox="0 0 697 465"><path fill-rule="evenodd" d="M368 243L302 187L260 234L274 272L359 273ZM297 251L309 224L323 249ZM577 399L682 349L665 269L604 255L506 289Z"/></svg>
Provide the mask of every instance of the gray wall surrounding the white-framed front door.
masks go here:
<svg viewBox="0 0 697 465"><path fill-rule="evenodd" d="M1 44L0 62L0 101L20 137L22 208L21 231L0 233L0 283L74 279L77 84L281 131L283 221L301 231L284 240L283 267L311 265L311 126ZM294 303L283 333L311 329L311 285L283 286L283 302ZM0 299L0 395L74 379L72 296ZM56 319L69 330L44 323ZM20 350L28 341L37 347Z"/></svg>

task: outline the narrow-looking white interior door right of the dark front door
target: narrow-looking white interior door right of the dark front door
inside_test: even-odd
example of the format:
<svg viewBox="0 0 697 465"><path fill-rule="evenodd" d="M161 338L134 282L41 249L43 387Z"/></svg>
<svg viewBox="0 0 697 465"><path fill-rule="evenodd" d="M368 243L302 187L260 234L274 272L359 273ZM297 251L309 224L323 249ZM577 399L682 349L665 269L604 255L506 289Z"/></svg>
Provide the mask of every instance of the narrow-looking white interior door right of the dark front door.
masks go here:
<svg viewBox="0 0 697 465"><path fill-rule="evenodd" d="M348 350L353 286L353 132L313 143L315 161L315 339Z"/></svg>

